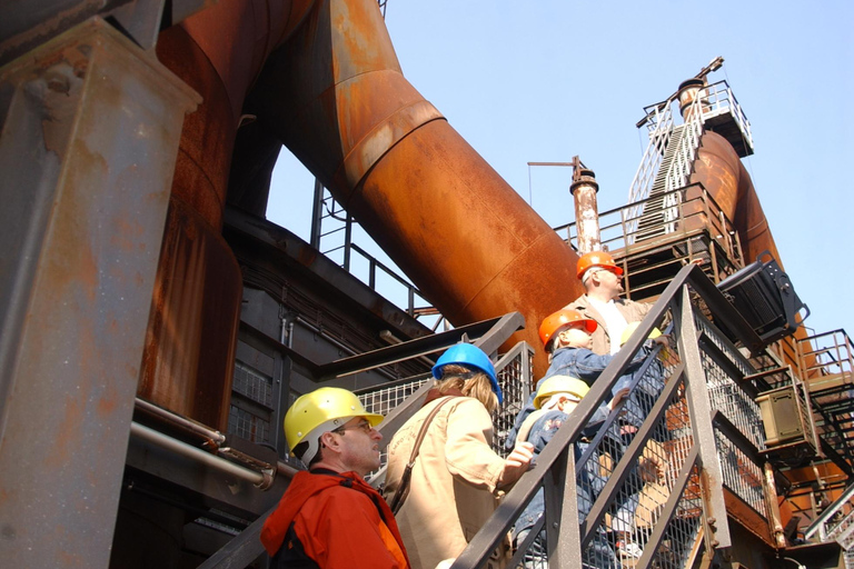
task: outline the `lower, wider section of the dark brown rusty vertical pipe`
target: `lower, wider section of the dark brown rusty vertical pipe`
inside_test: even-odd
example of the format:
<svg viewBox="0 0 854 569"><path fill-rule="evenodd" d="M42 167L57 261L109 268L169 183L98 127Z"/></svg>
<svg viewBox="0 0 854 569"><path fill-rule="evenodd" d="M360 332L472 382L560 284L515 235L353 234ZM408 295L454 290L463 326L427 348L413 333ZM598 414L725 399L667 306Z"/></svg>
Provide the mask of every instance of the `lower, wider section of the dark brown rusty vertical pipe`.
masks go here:
<svg viewBox="0 0 854 569"><path fill-rule="evenodd" d="M225 431L242 281L222 236L172 197L139 397Z"/></svg>

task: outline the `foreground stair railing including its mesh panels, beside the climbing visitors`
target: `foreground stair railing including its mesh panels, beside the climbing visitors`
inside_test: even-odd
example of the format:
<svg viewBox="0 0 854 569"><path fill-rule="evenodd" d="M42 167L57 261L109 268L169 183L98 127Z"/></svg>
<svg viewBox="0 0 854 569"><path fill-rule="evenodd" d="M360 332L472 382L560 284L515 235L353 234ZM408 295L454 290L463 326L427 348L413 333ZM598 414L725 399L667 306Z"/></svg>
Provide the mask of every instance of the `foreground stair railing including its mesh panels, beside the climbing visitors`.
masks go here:
<svg viewBox="0 0 854 569"><path fill-rule="evenodd" d="M698 267L679 271L638 335L615 356L538 456L536 468L507 493L453 569L485 567L495 546L540 490L545 512L528 538L517 543L509 567L525 559L539 533L538 545L545 548L549 567L682 569L701 555L711 558L716 548L729 546L729 498L724 489L767 513L762 462L754 458L757 449L751 442L758 411L751 407L751 397L741 393L741 379L753 369L694 308L688 287L712 307L716 319L744 335L753 333ZM582 442L587 420L610 399L612 386L640 349L645 333L661 326L668 310L676 346L663 361L649 357L633 376L634 390L649 395L648 407L617 407L597 435L584 441L585 450L576 459L574 445ZM656 362L663 373L653 369ZM728 409L719 400L736 405ZM734 431L746 442L722 446L734 440ZM745 453L743 449L749 448ZM618 538L638 546L639 557L623 556L615 542Z"/></svg>

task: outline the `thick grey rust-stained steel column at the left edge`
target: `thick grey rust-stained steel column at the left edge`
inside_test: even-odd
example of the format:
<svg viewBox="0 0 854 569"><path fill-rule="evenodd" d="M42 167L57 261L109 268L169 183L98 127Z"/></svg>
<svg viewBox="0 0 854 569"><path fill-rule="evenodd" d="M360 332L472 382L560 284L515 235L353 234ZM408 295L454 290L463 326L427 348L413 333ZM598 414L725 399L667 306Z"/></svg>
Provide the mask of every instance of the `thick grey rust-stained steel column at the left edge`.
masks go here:
<svg viewBox="0 0 854 569"><path fill-rule="evenodd" d="M0 559L106 568L183 116L89 20L0 69Z"/></svg>

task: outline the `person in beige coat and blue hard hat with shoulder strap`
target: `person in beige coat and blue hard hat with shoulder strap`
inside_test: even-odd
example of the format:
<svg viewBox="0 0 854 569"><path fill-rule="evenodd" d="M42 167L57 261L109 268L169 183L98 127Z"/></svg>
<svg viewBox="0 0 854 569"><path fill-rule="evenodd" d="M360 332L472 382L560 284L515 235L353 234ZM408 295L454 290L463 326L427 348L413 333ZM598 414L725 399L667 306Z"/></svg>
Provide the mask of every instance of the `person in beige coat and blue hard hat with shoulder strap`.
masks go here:
<svg viewBox="0 0 854 569"><path fill-rule="evenodd" d="M529 442L519 443L507 459L493 451L490 413L502 391L479 348L451 347L433 375L437 387L388 446L384 496L393 509L401 501L395 518L413 569L435 569L461 553L491 516L498 492L519 479L534 456ZM418 447L408 493L400 500L398 488L416 439L436 409ZM504 553L494 553L490 567L503 567Z"/></svg>

